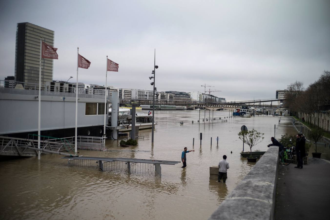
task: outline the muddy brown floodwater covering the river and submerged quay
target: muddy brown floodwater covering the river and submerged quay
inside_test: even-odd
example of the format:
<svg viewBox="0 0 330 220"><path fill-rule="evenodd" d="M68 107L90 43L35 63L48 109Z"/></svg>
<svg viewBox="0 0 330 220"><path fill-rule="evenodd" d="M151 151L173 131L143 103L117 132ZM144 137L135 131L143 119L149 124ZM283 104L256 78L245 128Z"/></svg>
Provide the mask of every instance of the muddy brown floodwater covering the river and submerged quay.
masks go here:
<svg viewBox="0 0 330 220"><path fill-rule="evenodd" d="M61 155L53 154L43 155L40 161L37 157L3 160L0 219L182 219L182 215L184 219L207 219L254 165L239 154L243 143L237 134L242 125L264 133L264 140L253 151L268 149L274 125L276 138L296 132L287 117L279 123L273 116L230 118L228 111L211 111L211 118L212 114L217 120L202 122L204 110L155 111L154 144L151 129L146 129L139 131L144 138L135 147L120 147L120 140L107 140L106 152L79 150L83 156L169 161L180 161L184 147L195 150L187 154L186 168L181 168L182 163L162 165L161 177L68 166ZM244 150L249 150L247 145ZM209 167L216 166L222 155L227 155L230 166L226 183L218 183L209 174Z"/></svg>

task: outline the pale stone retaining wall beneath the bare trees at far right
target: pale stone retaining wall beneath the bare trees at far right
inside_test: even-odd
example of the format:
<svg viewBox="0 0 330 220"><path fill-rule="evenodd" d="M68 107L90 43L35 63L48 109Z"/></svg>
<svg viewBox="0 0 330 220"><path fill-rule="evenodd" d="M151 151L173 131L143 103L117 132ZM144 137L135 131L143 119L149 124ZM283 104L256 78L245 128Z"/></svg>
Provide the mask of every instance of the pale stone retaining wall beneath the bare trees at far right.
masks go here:
<svg viewBox="0 0 330 220"><path fill-rule="evenodd" d="M330 112L320 112L318 116L317 112L315 112L314 114L298 112L298 117L300 119L304 117L305 121L310 122L313 125L322 128L323 130L330 131Z"/></svg>

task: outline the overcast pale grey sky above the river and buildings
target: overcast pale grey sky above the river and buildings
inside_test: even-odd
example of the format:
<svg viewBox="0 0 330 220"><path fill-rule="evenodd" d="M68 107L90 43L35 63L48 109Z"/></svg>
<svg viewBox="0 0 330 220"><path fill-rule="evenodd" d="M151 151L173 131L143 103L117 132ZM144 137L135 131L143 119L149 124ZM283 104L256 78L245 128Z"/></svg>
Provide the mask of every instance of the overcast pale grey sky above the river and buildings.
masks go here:
<svg viewBox="0 0 330 220"><path fill-rule="evenodd" d="M15 73L16 24L55 31L54 80L158 91L221 90L227 100L273 98L330 70L330 1L1 1L0 79Z"/></svg>

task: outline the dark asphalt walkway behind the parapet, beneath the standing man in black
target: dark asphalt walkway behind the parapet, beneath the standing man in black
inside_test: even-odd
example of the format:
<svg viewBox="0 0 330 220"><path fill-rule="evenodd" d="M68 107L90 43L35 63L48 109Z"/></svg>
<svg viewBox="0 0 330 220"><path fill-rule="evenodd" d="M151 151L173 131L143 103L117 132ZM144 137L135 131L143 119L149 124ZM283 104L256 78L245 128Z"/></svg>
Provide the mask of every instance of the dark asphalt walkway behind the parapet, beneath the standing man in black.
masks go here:
<svg viewBox="0 0 330 220"><path fill-rule="evenodd" d="M309 158L303 169L279 166L275 219L329 219L330 162Z"/></svg>

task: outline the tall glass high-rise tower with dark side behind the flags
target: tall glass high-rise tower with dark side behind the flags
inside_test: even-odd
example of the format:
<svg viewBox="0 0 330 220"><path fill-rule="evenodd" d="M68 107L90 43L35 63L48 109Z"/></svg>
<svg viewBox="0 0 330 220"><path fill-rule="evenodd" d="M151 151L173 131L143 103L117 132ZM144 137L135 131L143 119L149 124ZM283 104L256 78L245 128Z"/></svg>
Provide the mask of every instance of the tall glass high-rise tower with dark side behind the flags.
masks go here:
<svg viewBox="0 0 330 220"><path fill-rule="evenodd" d="M28 22L17 23L15 79L39 84L40 37L54 46L54 31ZM41 84L53 80L53 59L41 60Z"/></svg>

